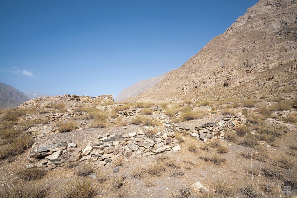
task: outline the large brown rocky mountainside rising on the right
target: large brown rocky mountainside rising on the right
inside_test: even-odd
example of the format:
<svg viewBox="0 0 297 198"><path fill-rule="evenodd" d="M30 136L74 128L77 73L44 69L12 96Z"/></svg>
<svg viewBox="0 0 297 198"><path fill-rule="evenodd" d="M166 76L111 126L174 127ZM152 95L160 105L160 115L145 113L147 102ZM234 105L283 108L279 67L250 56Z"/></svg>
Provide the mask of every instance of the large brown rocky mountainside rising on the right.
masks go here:
<svg viewBox="0 0 297 198"><path fill-rule="evenodd" d="M136 99L240 98L296 89L296 15L296 1L258 1Z"/></svg>

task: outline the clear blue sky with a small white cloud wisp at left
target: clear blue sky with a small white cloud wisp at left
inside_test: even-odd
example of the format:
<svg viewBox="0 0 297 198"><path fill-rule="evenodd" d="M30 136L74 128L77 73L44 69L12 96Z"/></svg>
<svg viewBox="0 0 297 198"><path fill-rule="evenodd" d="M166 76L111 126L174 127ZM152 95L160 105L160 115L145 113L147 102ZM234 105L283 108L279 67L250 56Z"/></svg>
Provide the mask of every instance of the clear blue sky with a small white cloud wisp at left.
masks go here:
<svg viewBox="0 0 297 198"><path fill-rule="evenodd" d="M118 95L180 67L255 0L0 1L0 82Z"/></svg>

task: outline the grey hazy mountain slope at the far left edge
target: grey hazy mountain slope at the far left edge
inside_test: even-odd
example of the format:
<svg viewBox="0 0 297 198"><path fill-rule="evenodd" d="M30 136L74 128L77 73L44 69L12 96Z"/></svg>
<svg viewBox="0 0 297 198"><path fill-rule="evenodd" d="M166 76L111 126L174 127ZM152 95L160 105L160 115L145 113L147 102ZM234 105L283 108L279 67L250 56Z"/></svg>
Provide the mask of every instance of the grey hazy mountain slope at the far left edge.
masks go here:
<svg viewBox="0 0 297 198"><path fill-rule="evenodd" d="M0 83L0 109L17 107L28 100L30 100L28 96L11 85Z"/></svg>

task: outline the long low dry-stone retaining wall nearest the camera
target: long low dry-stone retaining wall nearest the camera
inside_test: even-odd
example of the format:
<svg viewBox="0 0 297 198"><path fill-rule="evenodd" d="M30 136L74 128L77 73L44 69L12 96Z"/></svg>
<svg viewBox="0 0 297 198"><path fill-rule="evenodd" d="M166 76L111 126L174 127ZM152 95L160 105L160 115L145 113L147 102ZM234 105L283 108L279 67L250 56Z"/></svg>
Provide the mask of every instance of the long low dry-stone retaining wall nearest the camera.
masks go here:
<svg viewBox="0 0 297 198"><path fill-rule="evenodd" d="M144 131L133 131L124 135L102 134L94 145L87 145L83 151L75 148L75 143L58 143L41 146L30 151L27 160L31 162L26 167L47 167L50 169L59 167L65 161L91 160L93 164L110 164L120 156L124 158L155 155L163 151L179 151L178 140L174 138L174 130L170 124L167 129L156 133L153 137L146 136L146 130L151 126L143 127ZM152 127L154 128L154 127ZM50 165L50 166L49 166Z"/></svg>

